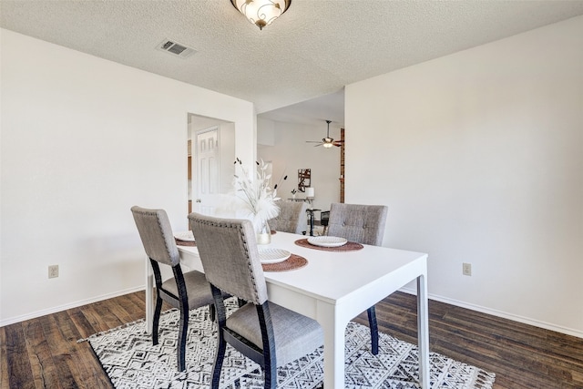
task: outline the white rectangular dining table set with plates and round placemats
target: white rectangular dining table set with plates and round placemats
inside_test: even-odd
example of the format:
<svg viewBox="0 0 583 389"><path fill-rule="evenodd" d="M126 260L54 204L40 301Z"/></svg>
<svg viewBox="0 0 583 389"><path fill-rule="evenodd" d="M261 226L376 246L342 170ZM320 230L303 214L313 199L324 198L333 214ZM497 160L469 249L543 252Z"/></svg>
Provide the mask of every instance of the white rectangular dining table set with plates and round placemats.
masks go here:
<svg viewBox="0 0 583 389"><path fill-rule="evenodd" d="M305 238L280 231L271 235L271 243L266 247L291 251L308 263L293 271L266 271L265 280L270 302L302 313L322 325L324 386L344 387L346 324L376 302L415 281L419 384L428 388L427 254L369 245L363 245L358 251L321 251L295 244ZM203 271L196 247L178 247L181 264ZM151 332L154 285L148 261L147 269L146 320L148 332Z"/></svg>

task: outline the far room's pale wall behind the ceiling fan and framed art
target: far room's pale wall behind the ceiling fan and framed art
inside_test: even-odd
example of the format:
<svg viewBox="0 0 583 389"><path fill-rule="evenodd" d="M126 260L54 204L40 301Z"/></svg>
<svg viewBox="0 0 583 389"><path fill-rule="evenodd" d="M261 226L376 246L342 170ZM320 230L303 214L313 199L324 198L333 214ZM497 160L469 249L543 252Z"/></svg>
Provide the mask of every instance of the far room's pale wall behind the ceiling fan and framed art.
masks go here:
<svg viewBox="0 0 583 389"><path fill-rule="evenodd" d="M257 154L273 163L274 181L283 174L288 175L288 179L278 186L278 197L283 200L292 198L292 189L298 188L298 169L312 169L313 208L330 210L330 204L340 200L340 148L314 147L315 143L306 143L306 140L324 138L326 123L313 127L261 119L257 130L258 138L272 139L273 146L260 145ZM268 136L264 135L265 132ZM340 128L331 126L330 136L340 139ZM305 193L299 192L296 197L303 199ZM314 213L319 220L320 213Z"/></svg>

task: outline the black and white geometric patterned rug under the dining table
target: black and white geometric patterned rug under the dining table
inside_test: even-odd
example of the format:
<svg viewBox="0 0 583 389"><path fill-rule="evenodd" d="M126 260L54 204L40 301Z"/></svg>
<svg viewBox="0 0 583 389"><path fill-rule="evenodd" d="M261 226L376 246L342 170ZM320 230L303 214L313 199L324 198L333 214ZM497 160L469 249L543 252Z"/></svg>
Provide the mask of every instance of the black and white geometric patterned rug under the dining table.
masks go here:
<svg viewBox="0 0 583 389"><path fill-rule="evenodd" d="M228 310L235 309L230 302ZM146 323L132 322L97 333L82 341L93 347L99 362L116 389L122 388L208 388L217 339L217 327L209 309L190 312L186 372L176 371L176 343L179 312L170 310L160 317L159 344L152 345ZM347 388L418 388L417 348L380 333L379 353L370 353L368 327L350 322L346 328ZM278 368L278 388L322 388L323 347L297 361ZM487 389L495 375L438 353L430 355L432 388ZM221 373L221 388L262 388L262 372L256 363L227 346Z"/></svg>

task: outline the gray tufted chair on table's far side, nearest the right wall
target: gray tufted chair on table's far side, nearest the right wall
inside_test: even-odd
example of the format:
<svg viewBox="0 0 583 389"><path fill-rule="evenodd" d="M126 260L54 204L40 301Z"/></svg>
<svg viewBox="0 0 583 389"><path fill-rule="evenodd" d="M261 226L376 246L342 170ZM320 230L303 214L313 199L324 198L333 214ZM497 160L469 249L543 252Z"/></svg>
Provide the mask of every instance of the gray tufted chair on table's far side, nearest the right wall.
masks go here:
<svg viewBox="0 0 583 389"><path fill-rule="evenodd" d="M381 246L388 209L384 205L332 203L328 220L328 235L362 244ZM379 330L374 306L366 310L371 329L371 349L379 353Z"/></svg>

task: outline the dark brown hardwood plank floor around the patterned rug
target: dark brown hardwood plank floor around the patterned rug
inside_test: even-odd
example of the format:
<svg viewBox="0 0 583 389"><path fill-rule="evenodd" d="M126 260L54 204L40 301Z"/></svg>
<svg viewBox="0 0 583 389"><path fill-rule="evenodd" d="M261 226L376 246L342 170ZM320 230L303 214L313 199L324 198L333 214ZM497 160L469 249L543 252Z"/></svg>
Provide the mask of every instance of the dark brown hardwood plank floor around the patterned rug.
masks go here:
<svg viewBox="0 0 583 389"><path fill-rule="evenodd" d="M376 306L379 329L416 343L415 297L397 292ZM496 374L495 389L583 388L583 339L429 302L431 351ZM144 292L0 328L1 388L110 388L87 342L145 316ZM366 315L355 319L366 323Z"/></svg>

